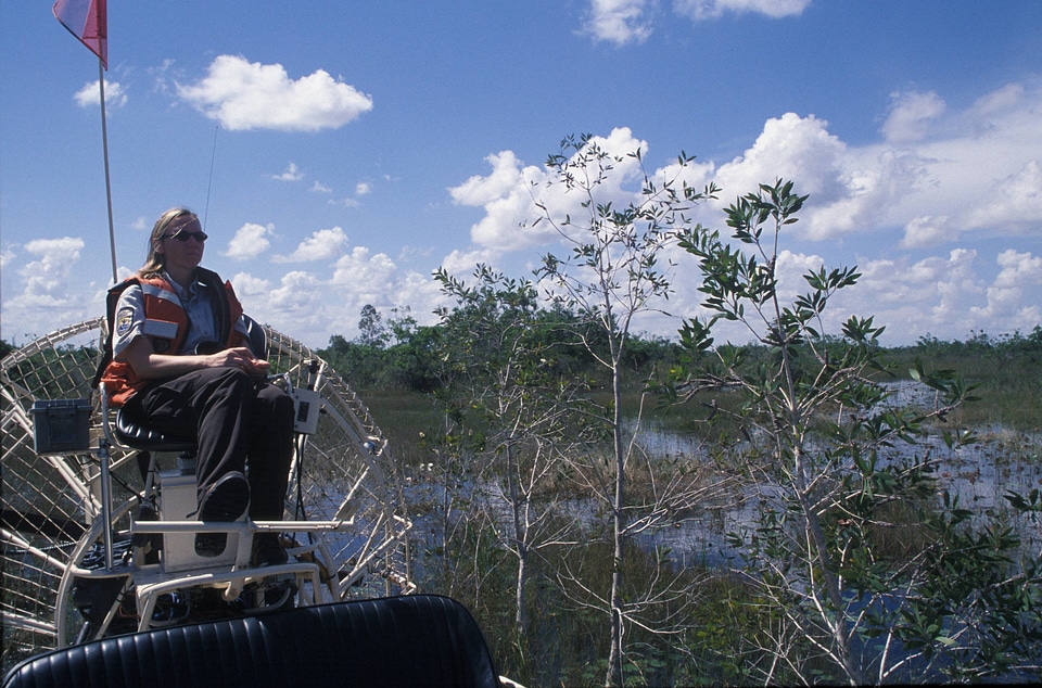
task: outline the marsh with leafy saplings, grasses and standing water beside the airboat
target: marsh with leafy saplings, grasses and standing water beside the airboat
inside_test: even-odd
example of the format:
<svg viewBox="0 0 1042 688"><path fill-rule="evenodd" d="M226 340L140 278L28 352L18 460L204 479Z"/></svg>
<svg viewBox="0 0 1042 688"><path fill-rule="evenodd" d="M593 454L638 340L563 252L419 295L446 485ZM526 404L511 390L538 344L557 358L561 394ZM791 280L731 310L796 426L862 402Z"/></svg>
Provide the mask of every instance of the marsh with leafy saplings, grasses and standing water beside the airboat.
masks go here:
<svg viewBox="0 0 1042 688"><path fill-rule="evenodd" d="M411 468L421 586L468 603L529 685L1038 679L1040 328L900 349L871 316L829 333L860 275L823 266L783 302L792 182L739 196L728 239L686 219L715 189L679 175L598 203L611 164L570 139L547 162L584 215L537 203L572 246L538 288L440 272L437 326L369 309L325 352L399 391L369 399ZM641 339L669 242L708 315ZM720 320L751 343L716 342Z"/></svg>

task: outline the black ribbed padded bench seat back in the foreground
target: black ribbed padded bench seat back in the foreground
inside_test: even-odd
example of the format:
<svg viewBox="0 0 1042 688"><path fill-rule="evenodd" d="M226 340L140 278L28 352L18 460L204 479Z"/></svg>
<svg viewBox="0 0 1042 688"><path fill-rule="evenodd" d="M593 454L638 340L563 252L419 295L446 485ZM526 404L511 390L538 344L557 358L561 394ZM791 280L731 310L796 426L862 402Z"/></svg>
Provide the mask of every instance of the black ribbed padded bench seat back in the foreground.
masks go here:
<svg viewBox="0 0 1042 688"><path fill-rule="evenodd" d="M2 688L499 686L458 602L411 595L104 638L30 658Z"/></svg>

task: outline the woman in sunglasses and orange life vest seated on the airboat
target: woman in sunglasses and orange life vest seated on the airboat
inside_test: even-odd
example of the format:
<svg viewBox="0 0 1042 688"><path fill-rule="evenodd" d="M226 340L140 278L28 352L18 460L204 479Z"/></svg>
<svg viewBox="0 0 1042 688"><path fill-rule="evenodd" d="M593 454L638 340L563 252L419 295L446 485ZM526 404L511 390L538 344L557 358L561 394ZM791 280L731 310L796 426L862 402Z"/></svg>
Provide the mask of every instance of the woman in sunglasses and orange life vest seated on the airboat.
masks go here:
<svg viewBox="0 0 1042 688"><path fill-rule="evenodd" d="M278 521L293 457L293 399L267 382L268 361L246 347L231 283L200 267L206 238L185 208L155 222L144 266L110 290L112 360L102 382L113 405L150 428L195 437L196 519L236 521L249 510L255 521ZM195 553L217 557L226 544L225 533L199 533ZM277 534L254 538L254 565L285 561Z"/></svg>

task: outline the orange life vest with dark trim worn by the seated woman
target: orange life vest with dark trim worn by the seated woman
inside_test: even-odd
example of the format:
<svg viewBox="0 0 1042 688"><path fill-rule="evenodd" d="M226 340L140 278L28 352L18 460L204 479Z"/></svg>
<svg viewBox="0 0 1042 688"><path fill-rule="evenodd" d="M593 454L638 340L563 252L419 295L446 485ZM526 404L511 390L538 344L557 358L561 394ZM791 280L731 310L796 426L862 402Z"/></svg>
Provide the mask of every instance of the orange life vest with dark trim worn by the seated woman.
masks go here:
<svg viewBox="0 0 1042 688"><path fill-rule="evenodd" d="M242 343L242 334L236 331L236 323L242 316L242 305L236 297L236 292L231 288L231 282L224 282L213 270L196 268L195 277L200 281L218 285L224 284L225 289L217 289L219 297L216 300L217 331L225 332L225 341L220 344L224 348ZM109 395L112 406L123 406L134 394L147 385L150 381L142 380L130 367L130 364L116 360L112 355L112 333L118 327L116 322L116 304L123 292L132 284L139 284L144 296L144 317L150 320L163 320L177 324L177 334L173 340L168 340L168 345L162 353L177 355L181 353L181 345L188 334L188 314L181 306L181 300L177 292L165 279L160 277L142 278L139 276L130 277L122 283L116 284L109 290L106 298L106 310L109 317L109 335L105 340L105 358L99 372L100 380L105 385L105 392Z"/></svg>

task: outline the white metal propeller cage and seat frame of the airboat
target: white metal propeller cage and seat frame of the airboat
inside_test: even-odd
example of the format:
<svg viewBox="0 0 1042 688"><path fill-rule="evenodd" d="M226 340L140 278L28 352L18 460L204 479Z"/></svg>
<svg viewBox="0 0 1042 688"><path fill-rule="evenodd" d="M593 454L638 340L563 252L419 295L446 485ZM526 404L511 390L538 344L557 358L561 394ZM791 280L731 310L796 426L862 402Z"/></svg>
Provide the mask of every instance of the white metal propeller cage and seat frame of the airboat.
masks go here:
<svg viewBox="0 0 1042 688"><path fill-rule="evenodd" d="M114 497L115 476L126 472L135 453L116 444L109 429L107 408L99 399L92 415L98 435L98 448L89 453L59 456L35 456L31 443L31 419L27 412L37 398L67 398L85 396L84 383L93 361L84 362L74 354L75 342L90 342L90 335L101 331L104 321L87 320L78 326L59 330L13 352L0 366L0 400L3 404L3 565L9 579L25 588L25 593L5 595L2 612L4 634L4 663L20 657L10 650L18 646L23 653L61 647L72 641L66 619L77 612L73 608L72 589L77 578L126 576L123 593L134 588L138 599L139 628L151 623L151 611L156 599L165 593L186 587L209 586L225 590L226 597L243 586L266 576L293 576L297 587L297 603L310 604L323 600L356 597L359 590L377 594L409 594L415 590L410 579L408 532L411 521L404 507L397 467L390 454L386 439L369 416L368 409L354 391L318 356L298 342L265 328L269 341L269 359L281 370L288 384L292 377L308 378L308 386L321 395L322 424L319 433L302 437L296 443L291 479L302 481L302 490L289 495L291 512L301 508L298 494L308 502L307 520L267 521L236 524L207 524L196 521L136 521L135 507L150 498L144 488L131 488L119 479L119 488L129 495ZM80 345L85 349L89 344ZM75 359L72 362L66 358ZM81 357L80 357L81 358ZM305 360L317 367L304 369ZM89 373L92 373L89 370ZM310 447L309 447L310 445ZM316 449L316 457L310 457ZM301 461L306 458L306 461ZM320 462L320 466L316 466ZM330 499L330 486L340 485L343 498ZM338 489L334 487L334 489ZM312 504L309 500L317 499ZM114 504L115 502L115 504ZM23 534L9 522L8 512L26 512L48 527ZM29 513L31 512L31 513ZM28 519L28 517L25 517ZM314 520L310 520L314 519ZM127 526L118 526L126 523ZM73 525L63 525L72 523ZM79 525L76 525L79 524ZM73 527L76 526L76 527ZM68 530L66 537L60 537ZM75 545L67 540L76 528L82 535ZM122 530L120 530L122 528ZM45 531L58 530L51 536ZM163 563L143 563L143 551L135 552L129 563L113 560L114 543L118 538L156 533L234 531L240 534L236 562L228 566L169 572ZM293 533L307 536L307 542L289 550L297 561L280 566L252 569L251 543L258 532ZM84 558L98 542L104 543L105 562L100 569L84 565ZM68 549L72 546L72 549ZM65 553L67 552L67 553ZM366 586L383 581L382 589ZM31 590L37 593L33 594ZM37 601L33 601L36 597ZM53 600L53 615L43 611L46 601ZM118 598L117 598L118 600ZM43 602L45 608L40 608ZM118 601L117 601L118 604ZM103 635L112 622L116 608L109 610ZM9 644L9 634L16 642ZM15 637L15 636L11 636Z"/></svg>

